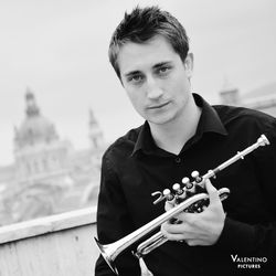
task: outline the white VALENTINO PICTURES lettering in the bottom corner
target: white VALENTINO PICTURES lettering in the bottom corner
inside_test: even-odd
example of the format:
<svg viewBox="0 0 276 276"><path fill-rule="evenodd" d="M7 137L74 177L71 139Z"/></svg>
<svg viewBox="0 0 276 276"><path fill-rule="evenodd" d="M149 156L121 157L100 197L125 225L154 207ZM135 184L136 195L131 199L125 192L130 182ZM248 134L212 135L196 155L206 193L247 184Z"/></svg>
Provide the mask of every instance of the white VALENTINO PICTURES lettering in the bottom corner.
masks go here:
<svg viewBox="0 0 276 276"><path fill-rule="evenodd" d="M267 257L256 257L256 256L238 256L237 254L230 255L232 262L236 264L236 267L240 269L258 269L267 263Z"/></svg>

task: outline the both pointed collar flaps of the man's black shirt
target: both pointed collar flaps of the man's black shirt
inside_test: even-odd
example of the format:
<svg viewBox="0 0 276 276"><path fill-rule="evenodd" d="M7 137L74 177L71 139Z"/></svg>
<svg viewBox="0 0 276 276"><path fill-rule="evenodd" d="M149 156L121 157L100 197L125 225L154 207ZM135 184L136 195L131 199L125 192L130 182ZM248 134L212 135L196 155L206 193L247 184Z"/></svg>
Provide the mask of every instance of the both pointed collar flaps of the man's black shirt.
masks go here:
<svg viewBox="0 0 276 276"><path fill-rule="evenodd" d="M215 109L211 105L209 105L208 102L205 102L200 95L193 93L193 97L195 104L202 108L194 138L197 137L199 139L204 132L216 132L223 136L227 135L227 131ZM149 124L146 120L141 126L141 130L138 135L131 156L134 156L138 151L151 153L157 149L158 147L156 146L155 140L151 136Z"/></svg>

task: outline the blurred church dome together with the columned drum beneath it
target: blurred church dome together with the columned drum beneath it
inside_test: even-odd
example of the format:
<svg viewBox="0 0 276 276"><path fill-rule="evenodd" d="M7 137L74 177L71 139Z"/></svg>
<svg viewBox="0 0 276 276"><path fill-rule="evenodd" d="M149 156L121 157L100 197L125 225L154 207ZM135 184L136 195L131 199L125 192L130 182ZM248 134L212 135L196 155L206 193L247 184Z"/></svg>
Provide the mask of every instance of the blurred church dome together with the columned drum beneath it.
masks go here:
<svg viewBox="0 0 276 276"><path fill-rule="evenodd" d="M19 183L33 183L68 173L72 146L60 140L54 125L41 115L35 97L25 94L25 118L14 129L15 174Z"/></svg>

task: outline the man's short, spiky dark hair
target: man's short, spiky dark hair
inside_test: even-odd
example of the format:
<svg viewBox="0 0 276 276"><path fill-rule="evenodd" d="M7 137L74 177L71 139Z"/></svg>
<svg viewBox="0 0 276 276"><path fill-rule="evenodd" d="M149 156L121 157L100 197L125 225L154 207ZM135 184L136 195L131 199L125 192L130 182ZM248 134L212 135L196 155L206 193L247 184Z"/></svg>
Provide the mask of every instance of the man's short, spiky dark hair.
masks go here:
<svg viewBox="0 0 276 276"><path fill-rule="evenodd" d="M119 78L117 59L120 47L127 42L145 43L158 34L168 40L184 62L189 52L189 38L183 25L173 15L157 6L137 6L130 13L125 12L124 19L113 33L108 50L109 62Z"/></svg>

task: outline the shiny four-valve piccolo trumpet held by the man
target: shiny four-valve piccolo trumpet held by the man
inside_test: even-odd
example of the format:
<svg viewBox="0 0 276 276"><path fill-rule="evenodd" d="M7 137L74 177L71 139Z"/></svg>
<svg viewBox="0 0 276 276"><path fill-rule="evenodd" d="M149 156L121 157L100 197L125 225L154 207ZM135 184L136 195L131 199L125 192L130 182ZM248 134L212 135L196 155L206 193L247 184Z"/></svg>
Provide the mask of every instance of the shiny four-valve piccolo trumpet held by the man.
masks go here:
<svg viewBox="0 0 276 276"><path fill-rule="evenodd" d="M264 147L269 145L268 139L265 135L262 135L255 144L247 147L243 151L237 151L237 153L226 160L225 162L217 166L215 169L209 170L204 176L200 177L199 173L195 171L192 173L194 181L190 182L187 178L182 179L184 184L183 189L179 189L179 187L174 188L176 195L172 195L168 191L156 192L152 195L159 194L159 199L156 200L153 203L158 203L162 200L174 201L176 205L170 209L169 211L164 212L163 214L159 215L158 217L153 219L152 221L148 222L144 226L137 229L136 231L131 232L130 234L126 235L125 237L110 243L110 244L100 244L98 240L95 237L96 244L99 248L102 256L105 258L108 266L112 270L118 275L118 270L115 266L116 257L121 254L129 246L135 244L136 242L140 241L146 235L150 234L157 227L161 226L162 223L169 220L173 220L180 212L202 212L203 208L209 204L209 195L204 188L204 182L206 179L215 178L216 174L224 170L230 164L236 162L240 159L244 159L244 157L258 147ZM219 190L219 195L221 201L226 199L230 194L230 190L227 188L222 188ZM157 248L161 244L166 243L168 240L162 235L159 231L157 234L152 235L144 243L141 243L137 251L134 253L137 257L142 257L144 255L150 253L152 250Z"/></svg>

